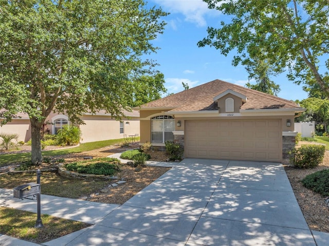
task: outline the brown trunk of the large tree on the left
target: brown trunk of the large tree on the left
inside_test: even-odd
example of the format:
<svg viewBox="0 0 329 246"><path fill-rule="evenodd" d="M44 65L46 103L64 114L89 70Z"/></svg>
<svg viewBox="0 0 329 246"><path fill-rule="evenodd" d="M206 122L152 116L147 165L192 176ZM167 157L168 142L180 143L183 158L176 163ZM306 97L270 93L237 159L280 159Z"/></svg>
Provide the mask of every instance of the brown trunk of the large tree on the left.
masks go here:
<svg viewBox="0 0 329 246"><path fill-rule="evenodd" d="M41 127L43 122L35 118L30 119L31 122L31 161L34 165L42 163L41 153Z"/></svg>

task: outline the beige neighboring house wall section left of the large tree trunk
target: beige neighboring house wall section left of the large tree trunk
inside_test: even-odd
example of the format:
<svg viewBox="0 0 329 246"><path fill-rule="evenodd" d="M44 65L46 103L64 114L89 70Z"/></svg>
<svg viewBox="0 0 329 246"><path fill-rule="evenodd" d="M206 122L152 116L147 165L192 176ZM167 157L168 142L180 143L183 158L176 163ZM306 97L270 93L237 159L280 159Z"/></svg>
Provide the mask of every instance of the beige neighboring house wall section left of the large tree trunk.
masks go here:
<svg viewBox="0 0 329 246"><path fill-rule="evenodd" d="M27 142L31 138L30 120L12 120L0 127L0 133L15 133L19 135L19 141Z"/></svg>

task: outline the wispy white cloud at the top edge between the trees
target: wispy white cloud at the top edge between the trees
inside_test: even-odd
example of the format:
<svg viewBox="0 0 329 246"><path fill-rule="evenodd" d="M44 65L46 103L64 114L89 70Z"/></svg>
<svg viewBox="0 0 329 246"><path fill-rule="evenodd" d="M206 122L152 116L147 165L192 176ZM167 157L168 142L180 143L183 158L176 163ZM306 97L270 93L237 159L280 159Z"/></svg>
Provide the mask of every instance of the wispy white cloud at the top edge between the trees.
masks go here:
<svg viewBox="0 0 329 246"><path fill-rule="evenodd" d="M217 10L208 9L207 3L202 0L153 0L153 2L170 13L183 14L185 21L195 23L199 27L207 25L205 15L219 14Z"/></svg>

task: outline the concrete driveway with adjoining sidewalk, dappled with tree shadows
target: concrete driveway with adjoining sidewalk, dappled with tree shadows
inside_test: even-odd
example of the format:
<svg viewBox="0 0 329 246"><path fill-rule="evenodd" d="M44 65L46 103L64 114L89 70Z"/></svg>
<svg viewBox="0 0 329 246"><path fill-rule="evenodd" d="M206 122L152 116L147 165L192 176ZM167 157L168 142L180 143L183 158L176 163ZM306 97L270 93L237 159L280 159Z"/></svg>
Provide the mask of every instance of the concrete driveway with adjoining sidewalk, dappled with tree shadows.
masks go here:
<svg viewBox="0 0 329 246"><path fill-rule="evenodd" d="M328 245L328 234L308 229L280 163L171 165L121 206L42 195L43 214L94 224L42 245ZM35 201L0 193L3 206L36 211ZM37 244L3 235L0 245Z"/></svg>

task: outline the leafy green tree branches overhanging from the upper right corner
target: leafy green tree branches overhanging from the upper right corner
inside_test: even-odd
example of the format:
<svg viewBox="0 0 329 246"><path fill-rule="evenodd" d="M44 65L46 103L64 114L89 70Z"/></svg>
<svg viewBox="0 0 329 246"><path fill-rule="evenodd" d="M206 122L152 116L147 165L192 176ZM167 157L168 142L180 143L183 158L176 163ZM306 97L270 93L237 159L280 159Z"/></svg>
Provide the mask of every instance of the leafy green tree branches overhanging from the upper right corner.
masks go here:
<svg viewBox="0 0 329 246"><path fill-rule="evenodd" d="M219 28L208 27L208 35L198 42L199 47L213 46L224 55L237 51L234 66L255 57L267 60L276 72L287 68L288 79L297 84L311 88L319 85L329 98L327 0L204 2L221 11L225 21Z"/></svg>

